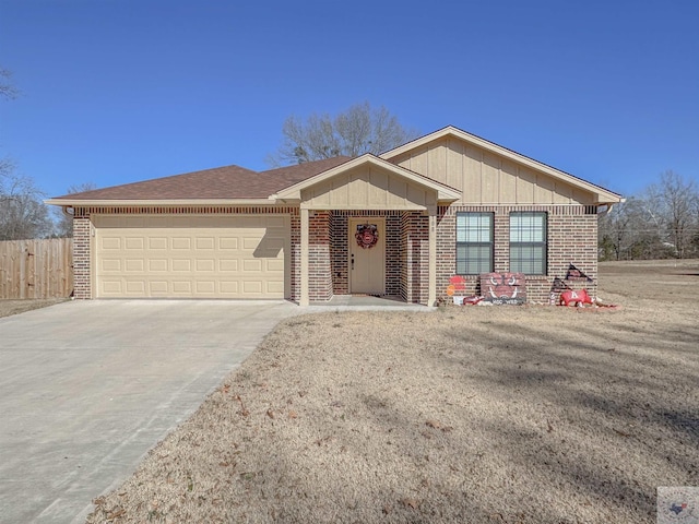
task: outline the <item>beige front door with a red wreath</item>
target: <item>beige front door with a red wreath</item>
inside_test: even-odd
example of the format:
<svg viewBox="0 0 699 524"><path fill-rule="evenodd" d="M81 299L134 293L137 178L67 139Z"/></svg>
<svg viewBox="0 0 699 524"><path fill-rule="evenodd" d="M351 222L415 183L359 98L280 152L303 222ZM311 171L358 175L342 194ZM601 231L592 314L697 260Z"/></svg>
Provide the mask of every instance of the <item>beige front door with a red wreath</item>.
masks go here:
<svg viewBox="0 0 699 524"><path fill-rule="evenodd" d="M350 293L386 294L386 218L350 218Z"/></svg>

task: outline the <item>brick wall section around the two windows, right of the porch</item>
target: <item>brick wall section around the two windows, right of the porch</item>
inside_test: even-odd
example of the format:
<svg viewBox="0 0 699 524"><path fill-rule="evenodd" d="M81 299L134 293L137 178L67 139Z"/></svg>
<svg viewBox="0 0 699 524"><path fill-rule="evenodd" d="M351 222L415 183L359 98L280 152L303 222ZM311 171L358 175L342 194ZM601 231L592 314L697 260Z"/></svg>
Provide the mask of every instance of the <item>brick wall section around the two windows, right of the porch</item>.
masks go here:
<svg viewBox="0 0 699 524"><path fill-rule="evenodd" d="M509 272L510 213L513 211L540 211L547 214L547 274L526 277L526 295L530 302L549 303L556 278L565 278L570 264L585 273L593 282L570 282L570 287L588 289L591 296L597 291L597 215L594 206L584 205L525 205L525 206L458 206L439 207L437 226L437 297L451 301L447 296L449 279L457 271L457 212L490 212L495 218L494 270ZM464 275L465 295L479 295L477 275Z"/></svg>

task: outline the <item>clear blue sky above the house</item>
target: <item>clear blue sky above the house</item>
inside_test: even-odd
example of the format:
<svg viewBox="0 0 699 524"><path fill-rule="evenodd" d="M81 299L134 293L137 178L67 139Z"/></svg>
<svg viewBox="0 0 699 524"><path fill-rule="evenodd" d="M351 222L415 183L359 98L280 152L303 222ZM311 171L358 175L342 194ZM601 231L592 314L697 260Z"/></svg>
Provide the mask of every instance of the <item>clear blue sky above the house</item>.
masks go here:
<svg viewBox="0 0 699 524"><path fill-rule="evenodd" d="M0 0L0 155L47 195L238 164L368 100L632 194L699 178L699 2Z"/></svg>

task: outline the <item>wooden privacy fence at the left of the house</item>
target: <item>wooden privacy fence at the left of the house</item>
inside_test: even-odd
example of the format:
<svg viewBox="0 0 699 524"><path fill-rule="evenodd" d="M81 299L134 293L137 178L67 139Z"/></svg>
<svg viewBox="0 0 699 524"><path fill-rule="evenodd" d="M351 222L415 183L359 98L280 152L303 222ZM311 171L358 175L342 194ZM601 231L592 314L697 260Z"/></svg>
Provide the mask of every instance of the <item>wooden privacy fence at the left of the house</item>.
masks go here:
<svg viewBox="0 0 699 524"><path fill-rule="evenodd" d="M72 238L0 242L0 299L60 298L72 290Z"/></svg>

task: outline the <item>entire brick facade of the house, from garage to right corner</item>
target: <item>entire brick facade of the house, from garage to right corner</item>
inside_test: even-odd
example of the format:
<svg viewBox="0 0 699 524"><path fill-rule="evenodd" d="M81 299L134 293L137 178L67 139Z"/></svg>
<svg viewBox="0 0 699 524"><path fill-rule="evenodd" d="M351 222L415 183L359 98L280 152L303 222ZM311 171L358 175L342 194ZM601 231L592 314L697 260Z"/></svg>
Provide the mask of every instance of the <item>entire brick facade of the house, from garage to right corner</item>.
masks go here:
<svg viewBox="0 0 699 524"><path fill-rule="evenodd" d="M569 282L596 295L597 216L594 206L458 206L439 207L437 216L437 297L447 296L449 279L455 275L455 214L495 214L495 271L509 271L509 214L512 211L547 213L547 274L526 278L530 301L548 303L555 278L565 278L573 264L593 282ZM291 222L291 298L300 299L300 215L298 207L212 206L212 207L76 207L73 217L73 270L75 298L91 298L91 216L94 214L288 214ZM425 212L401 211L318 211L309 214L309 298L323 301L333 294L348 293L348 230L351 216L386 217L386 294L406 302L427 303L429 286L429 219ZM465 295L479 294L477 275L466 276ZM555 296L558 299L558 296Z"/></svg>

